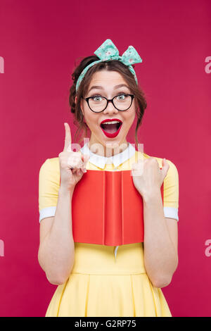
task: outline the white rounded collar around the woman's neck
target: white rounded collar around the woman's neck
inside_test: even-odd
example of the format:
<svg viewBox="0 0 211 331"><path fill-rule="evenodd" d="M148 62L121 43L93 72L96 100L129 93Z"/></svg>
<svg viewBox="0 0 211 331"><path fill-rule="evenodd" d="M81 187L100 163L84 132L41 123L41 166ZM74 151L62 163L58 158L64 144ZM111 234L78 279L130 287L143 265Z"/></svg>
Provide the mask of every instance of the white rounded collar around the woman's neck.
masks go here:
<svg viewBox="0 0 211 331"><path fill-rule="evenodd" d="M129 145L127 146L127 149L124 149L124 151L122 151L121 153L115 154L114 156L106 157L106 156L101 156L101 155L97 155L97 154L93 153L89 149L88 142L87 142L87 144L84 144L84 146L82 147L82 149L80 149L80 151L82 151L83 154L90 155L90 157L89 157L90 163L93 163L98 168L103 169L103 168L105 168L106 163L113 163L113 165L115 165L115 167L117 167L118 165L127 161L129 158L134 156L136 149L134 149L134 146L132 146L132 144L129 143Z"/></svg>

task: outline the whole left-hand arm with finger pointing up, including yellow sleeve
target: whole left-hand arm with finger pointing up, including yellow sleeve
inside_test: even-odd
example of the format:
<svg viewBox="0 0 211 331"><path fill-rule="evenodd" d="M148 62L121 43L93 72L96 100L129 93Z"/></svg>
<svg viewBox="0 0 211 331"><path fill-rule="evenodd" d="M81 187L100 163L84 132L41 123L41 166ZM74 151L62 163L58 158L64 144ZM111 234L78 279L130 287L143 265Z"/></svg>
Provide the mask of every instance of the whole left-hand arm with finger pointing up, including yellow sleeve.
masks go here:
<svg viewBox="0 0 211 331"><path fill-rule="evenodd" d="M70 127L65 123L65 146L58 156L59 162L56 158L47 159L39 171L39 211L56 206L56 213L46 218L41 214L38 260L54 285L63 284L74 265L72 195L88 161L87 156L72 152L71 141Z"/></svg>

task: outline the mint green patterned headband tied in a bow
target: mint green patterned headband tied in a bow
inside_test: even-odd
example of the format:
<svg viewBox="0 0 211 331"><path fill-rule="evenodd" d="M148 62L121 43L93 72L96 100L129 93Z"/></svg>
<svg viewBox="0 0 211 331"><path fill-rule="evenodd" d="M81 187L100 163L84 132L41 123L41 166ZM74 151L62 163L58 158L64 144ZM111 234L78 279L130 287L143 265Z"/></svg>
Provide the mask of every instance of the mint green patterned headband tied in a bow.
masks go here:
<svg viewBox="0 0 211 331"><path fill-rule="evenodd" d="M125 65L128 65L129 70L134 75L136 84L138 84L136 73L135 73L134 68L132 67L132 64L141 63L142 58L139 56L139 54L137 53L136 49L134 49L133 46L129 46L127 51L124 51L122 56L120 56L119 51L118 51L117 47L115 46L115 44L113 44L113 42L110 39L106 39L106 42L103 42L103 44L101 44L101 46L94 52L94 54L96 54L96 56L98 56L98 58L100 58L100 60L94 61L94 62L90 63L89 65L87 65L86 68L84 68L84 70L79 75L79 78L77 80L76 91L79 88L79 85L82 82L84 75L87 73L87 70L89 70L89 68L91 68L92 65L99 63L99 62L103 62L103 61L118 60L118 61L124 63Z"/></svg>

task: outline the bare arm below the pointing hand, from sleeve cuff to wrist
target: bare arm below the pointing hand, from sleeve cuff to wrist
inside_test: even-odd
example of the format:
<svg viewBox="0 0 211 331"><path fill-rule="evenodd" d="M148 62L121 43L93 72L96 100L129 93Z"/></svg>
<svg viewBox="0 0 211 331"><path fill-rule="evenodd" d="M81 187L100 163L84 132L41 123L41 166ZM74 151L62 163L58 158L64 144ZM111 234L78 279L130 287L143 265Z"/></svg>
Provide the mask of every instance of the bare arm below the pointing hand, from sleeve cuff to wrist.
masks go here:
<svg viewBox="0 0 211 331"><path fill-rule="evenodd" d="M68 279L74 264L72 193L60 187L55 216L44 218L40 224L39 264L54 285Z"/></svg>

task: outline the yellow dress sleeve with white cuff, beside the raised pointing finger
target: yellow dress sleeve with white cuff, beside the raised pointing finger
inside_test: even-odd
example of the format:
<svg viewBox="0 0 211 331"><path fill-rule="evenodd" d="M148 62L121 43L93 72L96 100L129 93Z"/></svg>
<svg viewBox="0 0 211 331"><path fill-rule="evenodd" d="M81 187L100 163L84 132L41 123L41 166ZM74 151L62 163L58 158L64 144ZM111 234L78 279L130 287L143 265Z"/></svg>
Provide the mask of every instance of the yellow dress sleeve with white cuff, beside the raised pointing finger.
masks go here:
<svg viewBox="0 0 211 331"><path fill-rule="evenodd" d="M47 158L39 170L39 222L55 215L59 186L58 160Z"/></svg>

